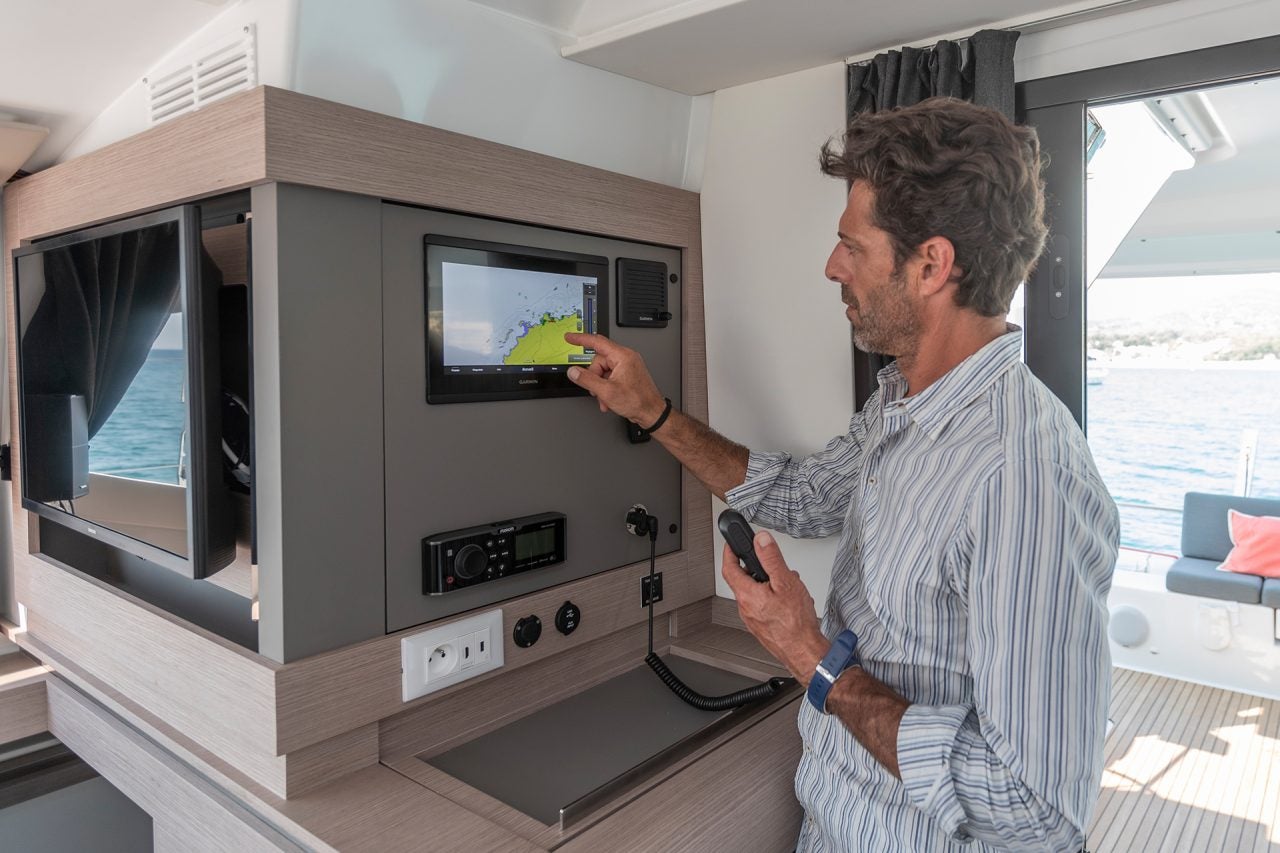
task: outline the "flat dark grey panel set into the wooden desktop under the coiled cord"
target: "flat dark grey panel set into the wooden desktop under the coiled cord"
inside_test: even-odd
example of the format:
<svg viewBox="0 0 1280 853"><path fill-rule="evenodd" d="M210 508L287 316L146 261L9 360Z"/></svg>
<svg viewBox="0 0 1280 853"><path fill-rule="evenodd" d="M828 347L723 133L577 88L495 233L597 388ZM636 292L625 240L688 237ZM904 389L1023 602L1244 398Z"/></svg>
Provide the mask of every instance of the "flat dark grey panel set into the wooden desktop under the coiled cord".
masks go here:
<svg viewBox="0 0 1280 853"><path fill-rule="evenodd" d="M755 684L695 661L663 660L685 684L707 695ZM562 807L727 713L686 704L641 665L424 761L552 825L559 821Z"/></svg>

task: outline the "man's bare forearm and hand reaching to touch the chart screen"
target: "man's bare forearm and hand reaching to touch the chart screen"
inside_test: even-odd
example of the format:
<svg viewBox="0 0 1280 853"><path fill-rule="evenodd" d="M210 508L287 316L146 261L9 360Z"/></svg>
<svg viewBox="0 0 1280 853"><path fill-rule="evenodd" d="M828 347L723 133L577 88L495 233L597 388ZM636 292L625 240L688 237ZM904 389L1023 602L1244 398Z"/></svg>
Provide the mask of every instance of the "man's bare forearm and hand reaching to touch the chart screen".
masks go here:
<svg viewBox="0 0 1280 853"><path fill-rule="evenodd" d="M637 426L650 426L662 416L667 403L639 352L599 334L571 332L564 339L595 350L591 365L570 368L568 378L595 397L600 411L618 414ZM652 434L721 500L746 479L750 452L696 418L672 409L667 421Z"/></svg>

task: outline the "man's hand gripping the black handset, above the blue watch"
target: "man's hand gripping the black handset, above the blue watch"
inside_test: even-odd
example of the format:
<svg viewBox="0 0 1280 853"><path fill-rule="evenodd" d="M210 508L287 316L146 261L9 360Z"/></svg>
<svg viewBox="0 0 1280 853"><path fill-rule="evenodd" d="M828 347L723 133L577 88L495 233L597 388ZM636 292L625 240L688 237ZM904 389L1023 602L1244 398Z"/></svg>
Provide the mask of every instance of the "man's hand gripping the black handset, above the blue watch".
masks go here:
<svg viewBox="0 0 1280 853"><path fill-rule="evenodd" d="M755 534L755 555L769 573L768 583L758 583L742 571L737 555L724 544L721 574L737 598L737 612L748 630L773 657L808 685L813 670L831 648L822 635L813 597L800 575L787 567L773 537L760 530Z"/></svg>

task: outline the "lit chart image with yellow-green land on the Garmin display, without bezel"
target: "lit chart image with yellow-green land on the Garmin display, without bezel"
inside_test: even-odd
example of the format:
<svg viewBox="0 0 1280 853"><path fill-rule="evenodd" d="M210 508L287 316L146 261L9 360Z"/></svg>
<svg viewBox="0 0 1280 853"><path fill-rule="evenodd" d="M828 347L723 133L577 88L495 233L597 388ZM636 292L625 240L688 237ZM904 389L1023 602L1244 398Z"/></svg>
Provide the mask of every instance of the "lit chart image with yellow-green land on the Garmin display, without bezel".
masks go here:
<svg viewBox="0 0 1280 853"><path fill-rule="evenodd" d="M447 373L591 362L591 352L564 333L595 332L595 277L453 261L440 268Z"/></svg>

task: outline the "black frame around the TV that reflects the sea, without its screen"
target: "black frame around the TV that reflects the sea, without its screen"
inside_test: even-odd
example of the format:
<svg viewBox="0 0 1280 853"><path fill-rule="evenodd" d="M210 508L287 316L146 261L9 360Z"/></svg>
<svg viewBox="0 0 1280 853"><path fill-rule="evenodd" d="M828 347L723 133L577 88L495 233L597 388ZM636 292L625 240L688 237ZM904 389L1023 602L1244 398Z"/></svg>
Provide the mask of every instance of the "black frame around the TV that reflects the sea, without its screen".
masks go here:
<svg viewBox="0 0 1280 853"><path fill-rule="evenodd" d="M220 442L216 423L211 418L218 416L219 380L218 380L218 353L206 352L210 341L216 342L216 334L210 334L207 325L216 323L216 310L211 310L210 293L201 287L201 218L200 207L196 205L183 205L160 210L141 216L122 219L119 222L88 228L84 231L50 237L23 246L13 252L14 275L14 315L17 324L15 350L17 350L17 392L18 392L18 429L19 437L27 433L26 424L26 394L23 393L23 366L22 366L22 280L19 277L20 260L31 255L42 255L50 250L65 248L79 243L93 242L104 237L140 231L165 223L178 223L178 291L182 300L183 313L183 347L187 369L187 406L184 414L184 429L187 430L188 475L186 489L187 510L187 556L175 555L157 546L114 530L99 523L82 519L70 512L64 512L41 501L36 501L27 494L26 478L22 478L22 506L24 510L49 519L65 528L105 542L122 551L142 557L164 569L179 575L200 579L224 567L225 562L215 561L211 555L212 537L210 524L215 492L221 489L220 460L209 452L215 442ZM212 295L216 298L216 293ZM214 302L214 309L216 302ZM20 442L22 469L27 466L27 442ZM234 556L234 551L232 551Z"/></svg>

